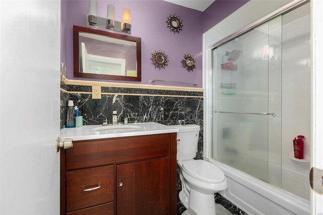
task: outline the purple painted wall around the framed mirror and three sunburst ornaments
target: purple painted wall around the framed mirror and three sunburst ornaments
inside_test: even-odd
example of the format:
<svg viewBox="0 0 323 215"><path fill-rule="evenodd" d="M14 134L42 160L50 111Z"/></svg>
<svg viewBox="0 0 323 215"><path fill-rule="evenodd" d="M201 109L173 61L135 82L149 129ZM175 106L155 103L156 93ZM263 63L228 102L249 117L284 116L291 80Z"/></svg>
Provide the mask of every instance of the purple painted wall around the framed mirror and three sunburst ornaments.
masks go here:
<svg viewBox="0 0 323 215"><path fill-rule="evenodd" d="M97 16L106 16L106 6L115 6L115 19L122 21L123 8L131 10L131 35L141 37L141 82L114 81L101 79L84 79L73 77L73 25L86 27L88 1L61 1L62 5L62 59L66 58L67 78L78 80L127 82L151 84L150 80L182 81L197 83L202 87L202 34L232 12L244 5L247 0L217 0L204 12L178 6L165 1L97 1ZM176 14L183 22L183 30L174 34L167 28L166 20ZM66 17L66 18L65 18ZM64 49L66 48L66 49ZM151 64L151 53L154 50L165 51L168 55L168 66L155 69ZM66 52L65 52L66 51ZM185 53L196 59L196 69L187 72L180 63ZM159 83L158 83L159 84ZM171 85L171 84L166 84ZM175 86L188 86L175 84Z"/></svg>

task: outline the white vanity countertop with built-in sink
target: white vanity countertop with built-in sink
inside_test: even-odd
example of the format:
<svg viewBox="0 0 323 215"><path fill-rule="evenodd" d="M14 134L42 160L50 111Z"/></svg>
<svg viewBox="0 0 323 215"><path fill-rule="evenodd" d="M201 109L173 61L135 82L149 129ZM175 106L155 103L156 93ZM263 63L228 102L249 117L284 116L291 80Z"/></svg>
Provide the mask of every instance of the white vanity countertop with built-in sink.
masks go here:
<svg viewBox="0 0 323 215"><path fill-rule="evenodd" d="M125 129L128 127L138 126L137 129ZM113 126L107 125L94 125L94 126L83 126L81 128L65 128L61 130L61 141L65 139L76 140L91 140L91 139L103 139L103 138L114 138L114 137L129 137L149 134L165 134L175 133L178 129L172 126L161 125L158 123L131 123L127 125L118 125L116 128L120 129L109 129ZM139 128L140 127L140 128ZM107 130L104 130L107 128ZM103 129L103 130L102 130ZM101 130L101 131L99 131Z"/></svg>

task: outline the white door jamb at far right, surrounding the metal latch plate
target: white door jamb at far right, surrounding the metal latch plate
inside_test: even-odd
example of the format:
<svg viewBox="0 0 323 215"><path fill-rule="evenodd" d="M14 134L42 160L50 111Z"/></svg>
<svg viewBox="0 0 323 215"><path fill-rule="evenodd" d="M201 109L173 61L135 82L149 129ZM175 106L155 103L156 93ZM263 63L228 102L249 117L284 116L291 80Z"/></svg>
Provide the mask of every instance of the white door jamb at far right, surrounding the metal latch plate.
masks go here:
<svg viewBox="0 0 323 215"><path fill-rule="evenodd" d="M311 167L323 170L323 2L311 1ZM323 176L322 176L323 177ZM323 195L311 189L311 214L323 214Z"/></svg>

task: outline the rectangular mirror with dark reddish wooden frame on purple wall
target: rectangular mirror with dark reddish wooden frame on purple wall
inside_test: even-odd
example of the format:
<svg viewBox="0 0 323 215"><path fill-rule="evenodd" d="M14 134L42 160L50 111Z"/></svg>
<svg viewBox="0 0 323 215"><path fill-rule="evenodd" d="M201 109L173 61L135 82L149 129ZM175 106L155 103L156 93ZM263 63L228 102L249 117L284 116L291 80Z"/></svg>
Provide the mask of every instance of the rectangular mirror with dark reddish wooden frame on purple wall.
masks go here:
<svg viewBox="0 0 323 215"><path fill-rule="evenodd" d="M74 77L141 81L141 38L73 26Z"/></svg>

